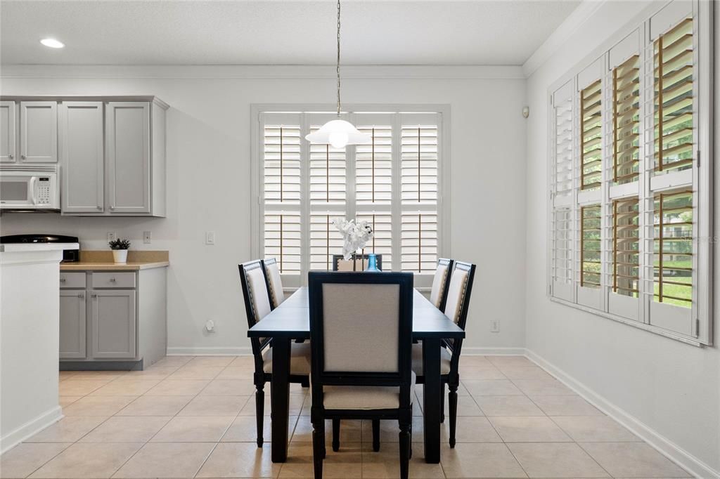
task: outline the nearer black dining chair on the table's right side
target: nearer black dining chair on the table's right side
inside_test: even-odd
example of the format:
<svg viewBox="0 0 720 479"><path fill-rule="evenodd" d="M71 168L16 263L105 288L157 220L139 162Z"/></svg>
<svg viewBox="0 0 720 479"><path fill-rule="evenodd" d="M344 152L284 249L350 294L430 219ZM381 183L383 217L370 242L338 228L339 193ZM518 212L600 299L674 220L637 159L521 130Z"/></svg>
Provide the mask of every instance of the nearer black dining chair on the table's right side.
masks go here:
<svg viewBox="0 0 720 479"><path fill-rule="evenodd" d="M454 261L450 275L450 283L444 305L445 316L452 319L461 329L467 323L467 311L470 305L470 293L475 277L475 265ZM448 412L450 415L450 447L455 447L455 430L457 424L457 388L460 385L458 367L462 339L444 340L440 351L440 374L442 396L440 401L441 418L445 413L445 385L449 388ZM423 345L413 345L413 372L417 375L418 384L425 383L423 375Z"/></svg>

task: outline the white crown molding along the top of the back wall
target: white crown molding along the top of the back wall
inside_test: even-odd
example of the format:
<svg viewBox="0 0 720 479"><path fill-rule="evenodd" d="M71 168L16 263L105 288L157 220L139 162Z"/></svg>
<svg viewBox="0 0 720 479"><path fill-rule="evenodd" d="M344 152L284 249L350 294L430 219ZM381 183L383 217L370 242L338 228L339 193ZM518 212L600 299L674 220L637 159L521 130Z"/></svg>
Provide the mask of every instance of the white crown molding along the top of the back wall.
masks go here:
<svg viewBox="0 0 720 479"><path fill-rule="evenodd" d="M367 65L342 68L354 79L523 79L520 65ZM0 78L335 78L335 66L310 65L2 65Z"/></svg>

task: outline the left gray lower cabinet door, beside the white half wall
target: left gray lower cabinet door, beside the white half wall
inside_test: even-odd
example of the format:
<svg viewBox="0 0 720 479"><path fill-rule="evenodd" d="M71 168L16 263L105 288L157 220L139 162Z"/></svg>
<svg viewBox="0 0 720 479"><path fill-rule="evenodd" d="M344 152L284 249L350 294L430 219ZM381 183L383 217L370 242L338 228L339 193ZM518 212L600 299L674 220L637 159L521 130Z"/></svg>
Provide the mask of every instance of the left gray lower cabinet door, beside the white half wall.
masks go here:
<svg viewBox="0 0 720 479"><path fill-rule="evenodd" d="M60 359L86 356L85 291L60 290Z"/></svg>

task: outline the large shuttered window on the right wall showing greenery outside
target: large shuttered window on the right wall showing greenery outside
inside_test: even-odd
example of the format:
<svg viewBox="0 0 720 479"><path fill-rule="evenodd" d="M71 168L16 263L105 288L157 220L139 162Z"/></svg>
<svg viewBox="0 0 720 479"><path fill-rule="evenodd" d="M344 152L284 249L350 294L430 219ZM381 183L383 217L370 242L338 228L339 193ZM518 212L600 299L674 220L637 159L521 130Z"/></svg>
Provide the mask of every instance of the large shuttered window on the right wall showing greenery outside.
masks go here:
<svg viewBox="0 0 720 479"><path fill-rule="evenodd" d="M696 345L711 344L709 12L651 12L558 82L549 115L550 296Z"/></svg>

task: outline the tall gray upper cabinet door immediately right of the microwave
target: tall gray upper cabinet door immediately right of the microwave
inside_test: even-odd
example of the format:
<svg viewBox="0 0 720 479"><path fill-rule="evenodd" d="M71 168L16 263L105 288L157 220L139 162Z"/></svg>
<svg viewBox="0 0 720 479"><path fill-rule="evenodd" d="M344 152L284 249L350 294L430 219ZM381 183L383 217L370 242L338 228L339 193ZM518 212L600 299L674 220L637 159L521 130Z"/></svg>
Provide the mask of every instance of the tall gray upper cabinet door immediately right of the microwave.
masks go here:
<svg viewBox="0 0 720 479"><path fill-rule="evenodd" d="M102 102L65 101L59 109L62 211L103 211Z"/></svg>

